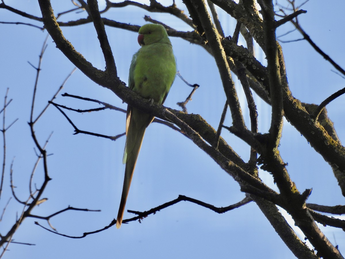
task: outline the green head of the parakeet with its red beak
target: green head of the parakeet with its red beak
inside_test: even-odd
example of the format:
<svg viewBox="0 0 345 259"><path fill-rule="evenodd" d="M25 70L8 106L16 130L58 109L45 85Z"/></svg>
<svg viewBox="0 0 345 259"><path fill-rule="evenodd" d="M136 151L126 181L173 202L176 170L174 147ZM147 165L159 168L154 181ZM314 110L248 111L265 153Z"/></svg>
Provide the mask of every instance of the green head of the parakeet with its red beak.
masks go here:
<svg viewBox="0 0 345 259"><path fill-rule="evenodd" d="M160 24L148 23L140 27L138 43L140 46L150 45L168 38L168 33Z"/></svg>

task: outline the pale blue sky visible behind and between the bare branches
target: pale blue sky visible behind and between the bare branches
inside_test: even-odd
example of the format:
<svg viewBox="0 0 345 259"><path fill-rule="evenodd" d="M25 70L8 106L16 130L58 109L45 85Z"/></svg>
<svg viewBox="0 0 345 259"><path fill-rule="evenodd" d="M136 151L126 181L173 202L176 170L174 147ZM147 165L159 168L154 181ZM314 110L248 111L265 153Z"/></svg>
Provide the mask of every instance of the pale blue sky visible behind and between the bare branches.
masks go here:
<svg viewBox="0 0 345 259"><path fill-rule="evenodd" d="M6 4L27 13L40 16L36 1L5 1ZM100 5L102 1L99 1ZM302 2L302 1L301 1ZM144 2L142 2L144 3ZM164 5L170 1L162 1ZM180 1L178 7L183 8ZM309 1L300 15L302 28L339 65L343 66L344 41L343 13L345 3L336 0L337 8L327 10L321 1ZM70 1L52 1L55 13L72 9ZM187 25L167 14L149 13L136 7L110 10L105 17L120 22L143 25L144 15L160 20L178 30L190 30ZM85 17L85 13L71 13L61 17L69 21ZM219 12L225 35L232 35L235 21L224 12ZM27 19L0 9L0 21L22 21ZM38 23L35 23L38 24ZM277 35L292 29L285 25ZM92 24L63 28L63 34L73 46L88 59L93 66L105 66L99 42ZM106 28L109 42L117 64L118 75L127 83L132 55L139 49L137 34L116 28ZM4 191L0 208L11 196L9 188L10 164L13 162L14 185L21 199L27 199L28 181L36 154L30 137L30 106L36 71L28 64L38 63L38 55L46 37L46 32L23 26L0 24L0 97L3 98L9 87L9 98L13 98L7 109L7 124L19 120L7 132L7 164ZM298 39L301 36L291 33L284 39ZM189 113L200 114L206 121L217 127L225 97L214 59L201 47L171 38L177 66L180 73L191 84L200 88L188 103ZM239 44L244 42L240 39ZM294 97L303 102L319 104L326 97L344 87L344 79L331 70L334 68L318 55L306 41L282 43L287 66L290 89ZM256 48L257 58L265 64L265 57ZM42 71L38 85L35 114L39 114L53 96L62 81L74 66L55 47L51 38L43 57ZM237 79L239 98L244 116L249 122L245 96ZM191 88L176 78L165 105L178 109L177 102L185 100ZM126 104L110 90L93 83L80 71L76 71L66 83L61 93L69 93L98 99L112 105L126 108ZM1 100L0 99L0 100ZM267 132L270 123L270 107L255 96L259 113L259 131ZM88 109L95 104L76 101L58 96L55 102L73 108ZM1 101L2 103L2 101ZM328 115L335 123L340 140L344 141L344 97L339 97L327 106ZM125 114L116 111L68 115L79 129L105 135L117 135L125 131ZM231 125L230 117L225 125ZM51 224L59 233L80 236L107 226L117 215L122 191L125 166L122 153L125 138L110 141L89 135L73 135L72 126L54 107L36 125L36 133L43 144L53 132L47 146L49 156L49 182L43 197L49 200L35 208L33 214L46 216L71 205L77 208L100 209L101 212L68 211L51 219ZM235 136L223 130L222 136L246 161L249 147ZM2 145L2 144L1 144ZM313 188L308 202L322 205L343 204L344 197L337 186L331 168L317 154L293 126L285 122L280 152L297 188L303 192ZM2 151L1 151L2 153ZM276 189L271 176L260 171L261 178L271 188ZM42 182L42 166L38 167L34 182ZM218 207L226 207L244 198L238 184L222 171L215 162L199 150L191 141L178 132L160 124L151 124L146 132L144 143L137 162L126 209L145 211L167 201L176 199L179 194L190 196ZM0 222L0 232L4 234L12 226L16 212L22 205L14 199ZM284 213L284 211L283 211ZM286 213L285 213L286 214ZM132 215L125 213L124 218ZM275 233L255 203L239 209L217 214L189 202L181 202L145 218L142 223L123 224L120 230L115 227L90 235L83 239L69 239L52 234L34 225L37 219L26 219L14 235L17 242L33 243L36 246L11 244L4 258L294 258L292 252ZM48 224L41 220L42 225ZM293 222L291 222L293 226ZM343 231L331 227L322 230L333 244L345 242ZM300 231L296 229L297 233ZM303 235L300 236L304 238ZM342 251L342 247L340 246ZM28 257L29 255L29 257Z"/></svg>

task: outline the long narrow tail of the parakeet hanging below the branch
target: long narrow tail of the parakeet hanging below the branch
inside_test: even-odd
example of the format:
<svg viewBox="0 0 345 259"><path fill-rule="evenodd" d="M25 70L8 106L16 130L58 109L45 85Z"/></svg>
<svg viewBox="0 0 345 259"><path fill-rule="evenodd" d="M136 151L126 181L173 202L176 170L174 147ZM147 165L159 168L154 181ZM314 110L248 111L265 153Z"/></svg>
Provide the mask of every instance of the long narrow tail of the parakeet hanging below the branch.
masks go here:
<svg viewBox="0 0 345 259"><path fill-rule="evenodd" d="M130 121L127 129L124 163L126 163L124 186L122 189L119 212L116 220L116 228L121 227L122 218L125 212L129 187L132 181L135 165L137 163L140 147L146 127L152 122L153 117L139 110L132 108Z"/></svg>

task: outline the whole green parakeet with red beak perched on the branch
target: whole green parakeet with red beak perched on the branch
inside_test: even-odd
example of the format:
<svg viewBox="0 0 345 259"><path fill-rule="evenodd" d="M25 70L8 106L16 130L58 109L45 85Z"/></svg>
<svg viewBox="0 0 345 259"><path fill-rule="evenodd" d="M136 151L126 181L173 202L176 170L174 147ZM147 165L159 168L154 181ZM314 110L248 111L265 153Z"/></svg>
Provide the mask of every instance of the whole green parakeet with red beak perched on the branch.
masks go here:
<svg viewBox="0 0 345 259"><path fill-rule="evenodd" d="M163 104L176 75L176 61L168 34L162 25L146 24L139 29L141 48L133 55L129 68L128 87L151 102ZM126 146L123 162L126 164L124 187L117 215L120 228L125 211L130 183L147 126L154 116L128 105L126 119Z"/></svg>

